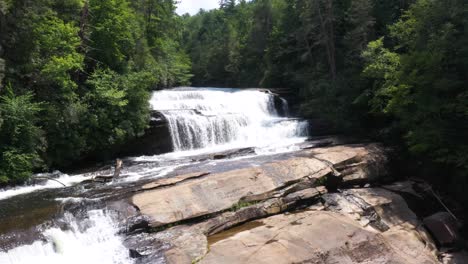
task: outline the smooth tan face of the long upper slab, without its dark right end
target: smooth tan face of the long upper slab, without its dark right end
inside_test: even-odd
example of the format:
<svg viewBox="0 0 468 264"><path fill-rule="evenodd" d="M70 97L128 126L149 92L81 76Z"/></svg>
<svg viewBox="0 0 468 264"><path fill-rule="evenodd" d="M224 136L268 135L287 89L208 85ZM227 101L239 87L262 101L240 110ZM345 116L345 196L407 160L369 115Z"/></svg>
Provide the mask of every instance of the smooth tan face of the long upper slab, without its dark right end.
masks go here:
<svg viewBox="0 0 468 264"><path fill-rule="evenodd" d="M292 158L138 193L132 201L151 218L152 226L160 226L223 211L246 195L272 191L304 177L318 179L330 172L326 164L316 159Z"/></svg>

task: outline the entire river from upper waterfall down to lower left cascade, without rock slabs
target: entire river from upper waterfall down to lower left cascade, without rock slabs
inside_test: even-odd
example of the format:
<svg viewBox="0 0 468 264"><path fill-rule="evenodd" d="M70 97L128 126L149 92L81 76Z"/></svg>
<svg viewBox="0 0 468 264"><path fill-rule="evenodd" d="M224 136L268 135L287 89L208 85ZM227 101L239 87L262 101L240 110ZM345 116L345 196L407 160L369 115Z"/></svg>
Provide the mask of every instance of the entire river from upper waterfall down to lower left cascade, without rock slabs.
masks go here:
<svg viewBox="0 0 468 264"><path fill-rule="evenodd" d="M167 120L174 152L124 158L121 175L109 183L89 181L112 175L105 166L39 175L54 180L0 190L0 263L133 263L123 244L126 218L116 201L180 171L222 170L233 160L297 150L308 136L307 122L291 118L287 102L268 91L176 88L154 92L150 104ZM222 161L199 158L245 148L253 151Z"/></svg>

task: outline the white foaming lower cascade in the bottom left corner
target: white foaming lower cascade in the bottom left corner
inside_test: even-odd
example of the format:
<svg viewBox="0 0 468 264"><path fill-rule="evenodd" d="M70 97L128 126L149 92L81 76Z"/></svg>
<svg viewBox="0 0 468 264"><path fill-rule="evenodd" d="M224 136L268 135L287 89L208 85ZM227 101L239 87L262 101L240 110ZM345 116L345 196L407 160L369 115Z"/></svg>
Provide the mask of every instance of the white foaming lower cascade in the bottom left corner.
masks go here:
<svg viewBox="0 0 468 264"><path fill-rule="evenodd" d="M129 264L129 251L117 235L112 216L103 210L88 212L78 220L70 214L69 230L50 228L45 241L36 241L8 252L0 252L1 264Z"/></svg>

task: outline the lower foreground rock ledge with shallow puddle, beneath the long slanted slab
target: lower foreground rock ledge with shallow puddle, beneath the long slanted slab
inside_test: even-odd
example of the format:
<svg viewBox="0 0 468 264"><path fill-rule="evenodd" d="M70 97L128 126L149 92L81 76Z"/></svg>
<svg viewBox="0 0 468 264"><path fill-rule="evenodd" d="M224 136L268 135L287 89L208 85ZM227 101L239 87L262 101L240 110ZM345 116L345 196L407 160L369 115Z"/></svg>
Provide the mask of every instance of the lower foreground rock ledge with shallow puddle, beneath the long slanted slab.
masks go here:
<svg viewBox="0 0 468 264"><path fill-rule="evenodd" d="M277 196L199 223L133 235L126 245L137 263L439 263L420 219L386 187Z"/></svg>

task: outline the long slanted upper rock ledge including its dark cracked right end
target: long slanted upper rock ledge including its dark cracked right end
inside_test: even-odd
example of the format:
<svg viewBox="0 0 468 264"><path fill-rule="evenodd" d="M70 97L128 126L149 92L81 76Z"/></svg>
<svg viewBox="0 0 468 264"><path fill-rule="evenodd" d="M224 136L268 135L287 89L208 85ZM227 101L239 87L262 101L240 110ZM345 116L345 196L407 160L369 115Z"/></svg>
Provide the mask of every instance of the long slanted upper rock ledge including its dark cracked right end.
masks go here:
<svg viewBox="0 0 468 264"><path fill-rule="evenodd" d="M265 200L301 181L313 186L331 178L370 182L385 175L385 164L384 151L377 144L314 148L254 167L179 175L166 188L158 188L156 181L131 200L149 217L149 225L158 227L223 212L243 201Z"/></svg>

